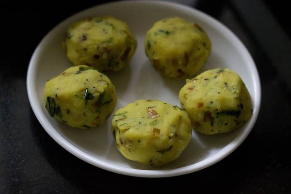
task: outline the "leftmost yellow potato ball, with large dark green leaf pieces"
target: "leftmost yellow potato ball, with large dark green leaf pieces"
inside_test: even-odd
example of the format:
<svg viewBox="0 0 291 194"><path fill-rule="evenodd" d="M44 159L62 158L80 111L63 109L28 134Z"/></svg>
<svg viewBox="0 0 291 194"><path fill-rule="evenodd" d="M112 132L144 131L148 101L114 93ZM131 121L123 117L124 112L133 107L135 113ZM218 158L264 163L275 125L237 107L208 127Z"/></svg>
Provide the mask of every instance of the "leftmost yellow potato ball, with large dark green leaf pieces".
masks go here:
<svg viewBox="0 0 291 194"><path fill-rule="evenodd" d="M80 65L47 81L44 100L50 116L71 127L88 129L106 121L117 98L106 75Z"/></svg>

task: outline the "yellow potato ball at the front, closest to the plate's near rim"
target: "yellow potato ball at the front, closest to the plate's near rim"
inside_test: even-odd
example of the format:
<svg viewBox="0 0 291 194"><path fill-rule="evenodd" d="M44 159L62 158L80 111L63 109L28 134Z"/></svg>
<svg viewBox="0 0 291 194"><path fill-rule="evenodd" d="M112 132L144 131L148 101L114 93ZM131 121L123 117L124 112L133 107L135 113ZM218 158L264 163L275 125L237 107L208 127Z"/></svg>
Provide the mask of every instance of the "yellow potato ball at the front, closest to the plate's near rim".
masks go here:
<svg viewBox="0 0 291 194"><path fill-rule="evenodd" d="M129 160L162 166L177 159L191 140L188 114L161 100L137 100L112 120L116 147Z"/></svg>

